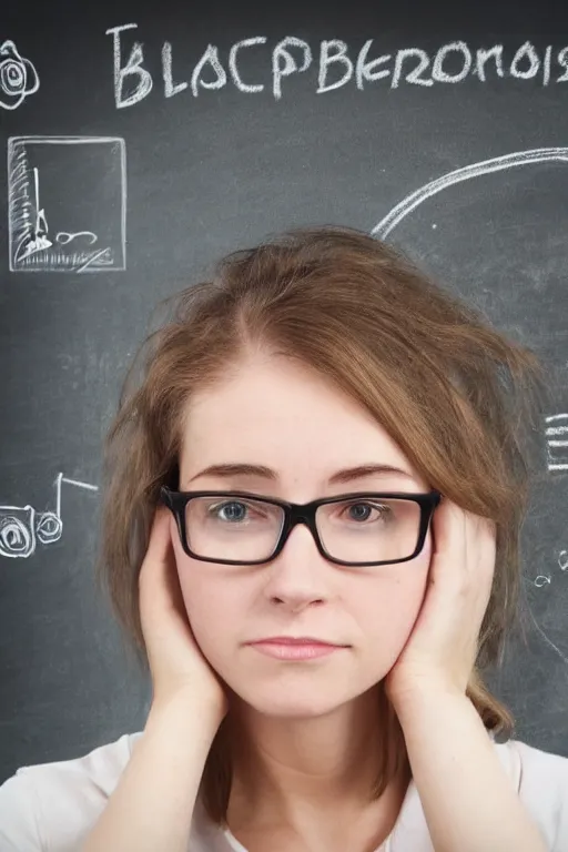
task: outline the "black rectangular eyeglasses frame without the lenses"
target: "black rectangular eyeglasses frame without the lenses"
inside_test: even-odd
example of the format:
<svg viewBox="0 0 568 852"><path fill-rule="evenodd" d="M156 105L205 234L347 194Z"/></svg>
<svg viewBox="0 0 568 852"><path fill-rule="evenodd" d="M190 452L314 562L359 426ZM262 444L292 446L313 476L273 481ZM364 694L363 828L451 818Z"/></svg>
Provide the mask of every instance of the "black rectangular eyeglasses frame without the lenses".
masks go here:
<svg viewBox="0 0 568 852"><path fill-rule="evenodd" d="M282 525L280 538L276 541L276 546L270 557L267 557L266 559L256 559L254 561L248 561L248 560L243 561L240 559L239 560L237 559L212 559L209 556L199 556L197 554L193 552L193 550L190 548L187 544L187 535L186 535L186 526L185 526L185 506L194 497L215 497L215 496L223 496L223 497L226 496L226 497L237 497L237 498L243 497L245 499L261 500L262 503L267 503L273 506L280 506L284 510L284 523ZM346 562L341 559L335 559L333 556L331 556L331 554L326 551L320 538L320 534L317 531L317 526L315 521L315 514L317 511L317 508L320 506L324 506L329 503L342 503L346 499L353 499L358 497L404 499L404 500L412 500L413 503L417 503L419 505L420 525L418 528L418 541L414 552L410 554L410 556L405 556L403 559L384 559L382 561L376 561L376 562ZM432 517L434 515L436 507L439 505L440 500L442 500L442 494L436 490L432 490L427 494L408 494L406 491L353 491L349 494L339 494L339 495L334 495L333 497L323 497L317 500L311 500L310 503L298 504L298 503L287 503L286 500L278 500L275 497L264 497L257 494L252 494L250 491L222 491L222 490L221 491L220 490L176 491L176 490L173 490L172 488L169 488L165 485L162 485L160 487L160 503L168 506L168 508L172 511L175 518L178 530L180 534L180 540L181 540L184 552L192 559L199 559L200 561L203 561L203 562L216 562L217 565L266 565L266 562L271 562L282 552L290 534L292 532L292 530L297 524L304 524L310 529L321 556L323 556L324 559L327 559L327 561L333 562L334 565L343 565L343 566L349 566L354 568L364 568L369 566L394 565L398 562L407 562L410 559L415 559L420 552L420 550L423 549Z"/></svg>

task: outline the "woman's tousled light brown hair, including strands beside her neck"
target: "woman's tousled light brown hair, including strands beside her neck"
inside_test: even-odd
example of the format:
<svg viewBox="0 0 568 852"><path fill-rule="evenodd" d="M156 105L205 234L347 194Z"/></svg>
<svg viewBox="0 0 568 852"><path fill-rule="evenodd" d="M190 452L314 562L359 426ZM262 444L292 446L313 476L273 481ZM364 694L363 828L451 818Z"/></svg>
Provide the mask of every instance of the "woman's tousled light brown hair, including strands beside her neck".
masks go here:
<svg viewBox="0 0 568 852"><path fill-rule="evenodd" d="M166 305L173 312L134 358L105 442L98 577L138 658L138 577L159 488L178 485L184 408L262 346L349 394L432 487L496 523L494 585L467 693L488 730L510 736L514 718L481 670L499 659L519 613L519 535L545 388L536 356L399 251L347 227L296 229L233 252L211 281ZM385 748L376 797L397 772L410 772L381 684L379 696ZM227 738L222 723L202 778L203 803L217 823L231 791Z"/></svg>

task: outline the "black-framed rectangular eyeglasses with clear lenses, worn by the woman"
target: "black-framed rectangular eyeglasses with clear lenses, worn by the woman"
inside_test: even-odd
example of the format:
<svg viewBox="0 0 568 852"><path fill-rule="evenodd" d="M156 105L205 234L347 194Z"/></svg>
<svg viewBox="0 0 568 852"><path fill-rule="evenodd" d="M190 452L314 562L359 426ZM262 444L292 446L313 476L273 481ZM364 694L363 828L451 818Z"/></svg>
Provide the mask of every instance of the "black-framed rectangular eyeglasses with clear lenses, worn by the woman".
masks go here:
<svg viewBox="0 0 568 852"><path fill-rule="evenodd" d="M305 524L325 559L363 567L418 556L442 495L356 491L296 504L250 491L162 486L160 499L173 513L183 550L193 559L264 565L278 556L296 524Z"/></svg>

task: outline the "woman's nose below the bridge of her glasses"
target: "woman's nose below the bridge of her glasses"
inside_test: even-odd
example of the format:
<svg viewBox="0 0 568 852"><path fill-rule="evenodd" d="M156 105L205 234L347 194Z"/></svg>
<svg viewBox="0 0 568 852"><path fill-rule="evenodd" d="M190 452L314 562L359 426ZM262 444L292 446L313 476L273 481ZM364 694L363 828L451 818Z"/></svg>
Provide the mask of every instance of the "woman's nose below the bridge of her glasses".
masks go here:
<svg viewBox="0 0 568 852"><path fill-rule="evenodd" d="M329 598L332 572L333 566L318 552L310 529L298 524L267 566L264 591L271 602L300 611Z"/></svg>

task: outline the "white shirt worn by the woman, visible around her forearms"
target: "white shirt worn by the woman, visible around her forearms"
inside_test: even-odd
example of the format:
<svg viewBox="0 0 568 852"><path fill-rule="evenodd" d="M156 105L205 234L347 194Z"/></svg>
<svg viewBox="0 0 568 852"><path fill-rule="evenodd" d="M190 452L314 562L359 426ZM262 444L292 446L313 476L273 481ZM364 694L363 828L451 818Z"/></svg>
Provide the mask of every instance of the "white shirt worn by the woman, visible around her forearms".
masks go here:
<svg viewBox="0 0 568 852"><path fill-rule="evenodd" d="M126 733L74 760L21 767L0 787L0 852L79 852L141 736ZM549 852L568 852L568 758L519 740L494 741L494 747ZM197 801L187 852L246 850L213 824ZM434 852L414 782L376 852Z"/></svg>

